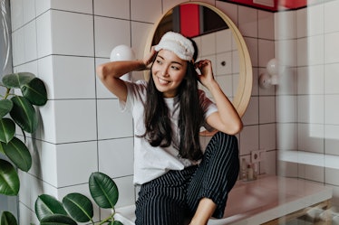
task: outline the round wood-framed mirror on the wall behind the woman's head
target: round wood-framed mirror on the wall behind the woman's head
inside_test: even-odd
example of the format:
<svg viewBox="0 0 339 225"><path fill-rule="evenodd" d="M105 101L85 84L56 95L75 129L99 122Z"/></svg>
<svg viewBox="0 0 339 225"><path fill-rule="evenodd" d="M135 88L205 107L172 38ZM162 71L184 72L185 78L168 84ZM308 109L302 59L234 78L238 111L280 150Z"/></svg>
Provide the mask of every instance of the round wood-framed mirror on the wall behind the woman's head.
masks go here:
<svg viewBox="0 0 339 225"><path fill-rule="evenodd" d="M176 5L154 25L145 54L168 31L182 33L197 42L199 59L212 61L216 80L242 117L252 91L252 64L247 45L235 23L218 8L206 3ZM148 78L146 72L145 79Z"/></svg>

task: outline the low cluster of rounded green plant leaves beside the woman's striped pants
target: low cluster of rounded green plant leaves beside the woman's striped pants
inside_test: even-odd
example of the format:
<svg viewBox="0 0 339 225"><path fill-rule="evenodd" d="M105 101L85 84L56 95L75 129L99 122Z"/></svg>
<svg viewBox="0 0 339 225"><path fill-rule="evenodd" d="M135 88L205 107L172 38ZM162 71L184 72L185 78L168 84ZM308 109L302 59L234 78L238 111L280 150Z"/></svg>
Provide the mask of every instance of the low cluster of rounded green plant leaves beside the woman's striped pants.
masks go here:
<svg viewBox="0 0 339 225"><path fill-rule="evenodd" d="M115 220L115 204L118 202L117 185L106 174L95 172L89 179L92 199L102 209L111 209L111 215L98 222L93 221L93 205L89 198L81 193L73 192L59 202L52 195L42 194L35 201L35 214L41 225L76 225L77 222L92 224L122 225Z"/></svg>

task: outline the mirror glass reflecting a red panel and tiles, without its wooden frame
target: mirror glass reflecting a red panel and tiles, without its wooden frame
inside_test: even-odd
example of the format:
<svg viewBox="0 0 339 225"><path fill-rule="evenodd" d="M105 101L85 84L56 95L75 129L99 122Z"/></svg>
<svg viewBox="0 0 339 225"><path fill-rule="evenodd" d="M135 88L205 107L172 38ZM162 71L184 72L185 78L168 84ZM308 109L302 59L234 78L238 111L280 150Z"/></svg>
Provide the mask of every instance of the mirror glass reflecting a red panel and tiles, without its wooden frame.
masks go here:
<svg viewBox="0 0 339 225"><path fill-rule="evenodd" d="M212 61L216 80L232 100L237 93L239 59L237 43L228 23L210 8L199 4L177 5L160 20L152 45L160 42L164 33L174 31L192 38L199 47L199 60ZM208 90L202 85L208 97Z"/></svg>

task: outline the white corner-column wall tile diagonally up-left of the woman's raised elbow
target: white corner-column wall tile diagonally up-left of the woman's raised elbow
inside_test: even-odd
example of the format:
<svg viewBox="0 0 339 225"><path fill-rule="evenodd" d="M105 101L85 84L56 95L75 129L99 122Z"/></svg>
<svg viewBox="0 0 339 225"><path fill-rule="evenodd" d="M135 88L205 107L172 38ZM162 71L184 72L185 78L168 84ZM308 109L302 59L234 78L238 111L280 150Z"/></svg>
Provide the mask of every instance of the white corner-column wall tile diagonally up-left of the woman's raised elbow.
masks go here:
<svg viewBox="0 0 339 225"><path fill-rule="evenodd" d="M53 54L94 56L92 15L53 10L50 25Z"/></svg>

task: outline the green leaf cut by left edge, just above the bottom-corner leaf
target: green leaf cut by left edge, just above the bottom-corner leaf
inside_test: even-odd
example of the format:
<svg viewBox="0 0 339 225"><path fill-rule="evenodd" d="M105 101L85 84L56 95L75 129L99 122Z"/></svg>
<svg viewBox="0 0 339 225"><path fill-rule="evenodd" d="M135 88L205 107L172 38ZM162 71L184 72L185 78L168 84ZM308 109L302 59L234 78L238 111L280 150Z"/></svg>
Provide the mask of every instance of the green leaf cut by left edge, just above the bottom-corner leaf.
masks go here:
<svg viewBox="0 0 339 225"><path fill-rule="evenodd" d="M20 189L19 176L13 164L0 159L0 193L5 195L17 195Z"/></svg>

